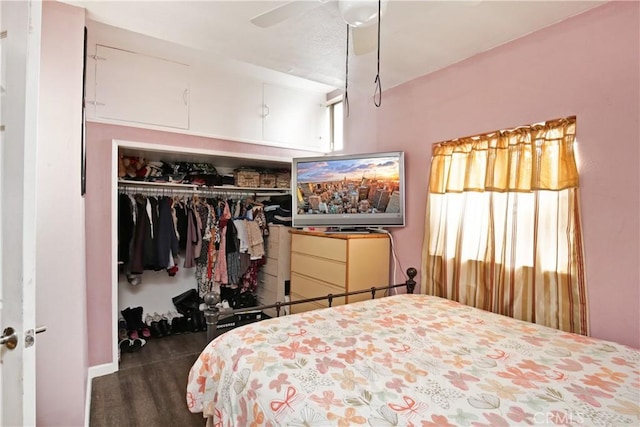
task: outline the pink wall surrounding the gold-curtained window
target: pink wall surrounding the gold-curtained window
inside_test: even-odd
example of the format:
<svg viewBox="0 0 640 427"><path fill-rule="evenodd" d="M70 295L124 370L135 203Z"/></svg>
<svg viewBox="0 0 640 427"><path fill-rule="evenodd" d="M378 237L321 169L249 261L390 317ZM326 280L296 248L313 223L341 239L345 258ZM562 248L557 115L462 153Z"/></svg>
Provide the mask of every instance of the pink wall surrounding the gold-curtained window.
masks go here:
<svg viewBox="0 0 640 427"><path fill-rule="evenodd" d="M404 268L420 267L431 144L576 115L591 334L640 348L639 16L612 2L384 92L376 149L407 161ZM371 151L347 126L349 151Z"/></svg>

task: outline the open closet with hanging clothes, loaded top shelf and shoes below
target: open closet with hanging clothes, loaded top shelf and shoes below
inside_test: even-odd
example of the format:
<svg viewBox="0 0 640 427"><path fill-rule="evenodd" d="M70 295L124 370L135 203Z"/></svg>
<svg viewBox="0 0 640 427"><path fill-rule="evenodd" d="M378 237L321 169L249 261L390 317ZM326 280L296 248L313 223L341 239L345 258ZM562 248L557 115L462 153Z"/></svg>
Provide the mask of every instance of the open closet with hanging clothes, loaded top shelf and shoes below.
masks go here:
<svg viewBox="0 0 640 427"><path fill-rule="evenodd" d="M120 369L199 353L207 342L203 296L210 291L222 307L269 303L259 290L269 248L265 205L288 199L290 209L291 192L272 186L275 180L264 181L268 187L231 185L237 179L229 176L248 167L284 171L290 163L170 148L113 143L112 304ZM199 173L171 179L184 178L187 169Z"/></svg>

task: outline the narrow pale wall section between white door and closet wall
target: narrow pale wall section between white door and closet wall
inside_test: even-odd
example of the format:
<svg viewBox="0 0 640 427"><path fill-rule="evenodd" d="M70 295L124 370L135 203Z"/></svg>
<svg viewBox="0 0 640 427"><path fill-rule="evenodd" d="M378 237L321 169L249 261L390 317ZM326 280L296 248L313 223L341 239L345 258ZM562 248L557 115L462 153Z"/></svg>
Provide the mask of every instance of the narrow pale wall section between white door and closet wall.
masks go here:
<svg viewBox="0 0 640 427"><path fill-rule="evenodd" d="M80 141L84 10L43 2L37 161L36 419L84 424L88 369Z"/></svg>

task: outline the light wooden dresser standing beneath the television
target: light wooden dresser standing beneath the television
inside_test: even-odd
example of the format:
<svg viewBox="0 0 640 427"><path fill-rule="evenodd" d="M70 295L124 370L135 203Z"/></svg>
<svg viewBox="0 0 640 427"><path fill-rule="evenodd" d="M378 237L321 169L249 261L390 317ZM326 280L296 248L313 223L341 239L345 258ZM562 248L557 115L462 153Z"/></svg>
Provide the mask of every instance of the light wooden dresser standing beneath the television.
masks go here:
<svg viewBox="0 0 640 427"><path fill-rule="evenodd" d="M325 234L291 230L291 300L389 284L389 236ZM332 305L371 298L370 293L334 298ZM327 307L326 301L296 304L292 313Z"/></svg>

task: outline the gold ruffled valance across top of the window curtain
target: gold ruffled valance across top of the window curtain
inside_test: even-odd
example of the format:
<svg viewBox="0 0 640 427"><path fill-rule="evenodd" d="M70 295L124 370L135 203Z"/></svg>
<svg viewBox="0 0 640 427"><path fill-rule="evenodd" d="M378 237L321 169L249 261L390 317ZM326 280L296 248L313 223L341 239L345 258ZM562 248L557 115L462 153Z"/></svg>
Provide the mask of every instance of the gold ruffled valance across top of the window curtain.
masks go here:
<svg viewBox="0 0 640 427"><path fill-rule="evenodd" d="M430 192L563 190L578 187L576 118L433 145Z"/></svg>

